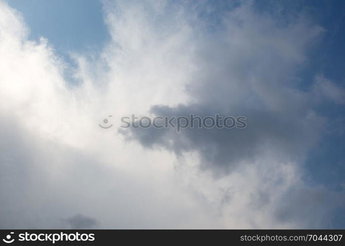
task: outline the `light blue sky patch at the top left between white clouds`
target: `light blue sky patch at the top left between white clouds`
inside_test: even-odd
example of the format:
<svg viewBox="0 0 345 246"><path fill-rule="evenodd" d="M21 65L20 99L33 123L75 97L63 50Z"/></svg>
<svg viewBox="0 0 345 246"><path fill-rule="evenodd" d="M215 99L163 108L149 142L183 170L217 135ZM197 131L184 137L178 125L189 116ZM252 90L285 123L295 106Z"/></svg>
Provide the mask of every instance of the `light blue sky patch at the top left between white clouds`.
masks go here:
<svg viewBox="0 0 345 246"><path fill-rule="evenodd" d="M30 27L30 39L49 39L58 52L100 50L109 39L102 3L92 0L11 0Z"/></svg>

